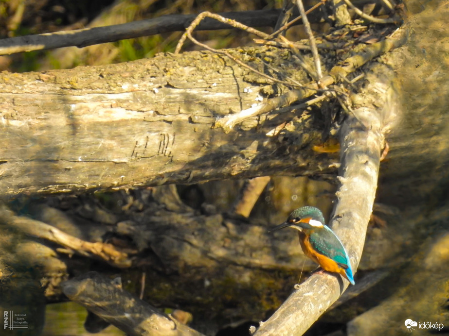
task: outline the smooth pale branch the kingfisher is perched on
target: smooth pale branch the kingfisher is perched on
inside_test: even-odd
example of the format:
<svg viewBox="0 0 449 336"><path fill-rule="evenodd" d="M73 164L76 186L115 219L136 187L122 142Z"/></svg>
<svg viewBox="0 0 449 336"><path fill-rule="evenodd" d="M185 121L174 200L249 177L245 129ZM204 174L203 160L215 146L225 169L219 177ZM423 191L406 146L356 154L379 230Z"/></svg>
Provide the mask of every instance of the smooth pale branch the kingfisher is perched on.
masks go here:
<svg viewBox="0 0 449 336"><path fill-rule="evenodd" d="M389 120L397 115L391 70L379 65L368 74L368 84L354 101L355 116L348 117L341 129L341 186L332 221L349 252L354 271L359 265L376 195L384 132L390 126ZM360 127L360 121L369 127ZM331 274L312 275L295 287L281 307L261 323L254 336L302 335L337 301L348 284Z"/></svg>

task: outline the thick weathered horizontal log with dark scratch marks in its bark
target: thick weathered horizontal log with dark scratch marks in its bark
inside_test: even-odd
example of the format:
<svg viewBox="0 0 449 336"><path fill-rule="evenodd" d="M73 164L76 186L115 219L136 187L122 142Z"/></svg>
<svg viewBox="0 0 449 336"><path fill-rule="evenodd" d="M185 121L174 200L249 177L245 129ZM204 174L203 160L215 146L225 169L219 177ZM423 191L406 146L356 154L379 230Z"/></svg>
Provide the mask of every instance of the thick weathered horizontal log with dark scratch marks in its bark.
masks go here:
<svg viewBox="0 0 449 336"><path fill-rule="evenodd" d="M233 53L262 71L261 58L284 66L283 72L298 81L304 75L294 65L287 67L291 59L286 50ZM263 99L262 92L285 89L209 52L105 67L3 73L0 192L193 183L261 171L335 172L333 158L317 157L310 150L322 136L310 114L294 119L279 136L266 134L291 120L291 114L252 118L239 134L211 128L216 117Z"/></svg>

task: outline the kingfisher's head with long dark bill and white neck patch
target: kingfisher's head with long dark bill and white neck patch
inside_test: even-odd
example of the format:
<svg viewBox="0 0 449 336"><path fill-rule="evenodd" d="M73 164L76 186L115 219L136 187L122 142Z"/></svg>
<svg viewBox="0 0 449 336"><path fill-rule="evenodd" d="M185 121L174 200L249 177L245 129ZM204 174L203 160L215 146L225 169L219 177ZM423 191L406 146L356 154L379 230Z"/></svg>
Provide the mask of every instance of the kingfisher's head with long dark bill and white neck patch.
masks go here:
<svg viewBox="0 0 449 336"><path fill-rule="evenodd" d="M293 211L287 220L269 230L269 232L292 227L296 230L311 230L317 228L323 228L324 217L320 209L314 206L303 206Z"/></svg>

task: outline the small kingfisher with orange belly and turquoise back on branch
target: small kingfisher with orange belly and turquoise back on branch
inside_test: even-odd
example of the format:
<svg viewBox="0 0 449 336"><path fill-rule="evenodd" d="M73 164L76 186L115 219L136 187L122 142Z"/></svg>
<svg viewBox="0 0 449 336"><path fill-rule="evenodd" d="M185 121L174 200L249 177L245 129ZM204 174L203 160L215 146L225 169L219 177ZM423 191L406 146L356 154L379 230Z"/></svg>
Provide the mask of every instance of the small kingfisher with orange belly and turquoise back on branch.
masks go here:
<svg viewBox="0 0 449 336"><path fill-rule="evenodd" d="M314 206L298 208L284 223L269 232L287 227L299 230L299 242L306 256L325 271L339 273L355 285L348 253L337 235L325 224L320 209Z"/></svg>

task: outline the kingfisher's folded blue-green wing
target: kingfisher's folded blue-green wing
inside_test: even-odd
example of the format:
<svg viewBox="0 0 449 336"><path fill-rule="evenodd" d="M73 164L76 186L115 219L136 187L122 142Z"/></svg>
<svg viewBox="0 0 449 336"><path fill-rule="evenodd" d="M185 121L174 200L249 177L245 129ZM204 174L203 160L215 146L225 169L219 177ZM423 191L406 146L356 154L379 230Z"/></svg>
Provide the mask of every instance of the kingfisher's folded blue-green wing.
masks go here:
<svg viewBox="0 0 449 336"><path fill-rule="evenodd" d="M324 230L320 230L319 233L312 231L309 241L316 252L334 260L343 269L351 268L349 256L343 244L326 225L324 225Z"/></svg>

